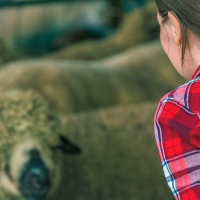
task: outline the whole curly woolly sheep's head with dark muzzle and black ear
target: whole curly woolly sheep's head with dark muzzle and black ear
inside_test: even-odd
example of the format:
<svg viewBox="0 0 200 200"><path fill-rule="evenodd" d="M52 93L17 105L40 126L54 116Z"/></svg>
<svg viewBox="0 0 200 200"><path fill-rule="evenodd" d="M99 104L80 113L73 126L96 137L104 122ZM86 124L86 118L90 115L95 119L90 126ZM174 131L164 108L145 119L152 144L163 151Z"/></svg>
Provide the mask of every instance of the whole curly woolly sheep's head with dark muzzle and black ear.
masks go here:
<svg viewBox="0 0 200 200"><path fill-rule="evenodd" d="M0 199L45 200L52 194L61 173L59 150L80 152L61 128L56 113L34 91L0 97Z"/></svg>

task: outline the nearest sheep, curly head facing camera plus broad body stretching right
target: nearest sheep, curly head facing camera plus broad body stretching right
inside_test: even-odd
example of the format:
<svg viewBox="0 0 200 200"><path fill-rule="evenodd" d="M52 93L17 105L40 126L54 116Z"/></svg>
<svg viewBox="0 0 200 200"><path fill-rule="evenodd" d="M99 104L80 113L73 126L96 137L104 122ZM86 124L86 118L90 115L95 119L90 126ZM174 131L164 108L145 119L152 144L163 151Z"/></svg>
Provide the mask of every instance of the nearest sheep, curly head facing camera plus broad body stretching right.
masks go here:
<svg viewBox="0 0 200 200"><path fill-rule="evenodd" d="M1 95L0 198L172 199L156 153L155 108L155 103L146 102L57 115L35 91L10 90ZM59 153L80 152L66 138L76 141L82 154ZM41 191L37 184L42 184Z"/></svg>

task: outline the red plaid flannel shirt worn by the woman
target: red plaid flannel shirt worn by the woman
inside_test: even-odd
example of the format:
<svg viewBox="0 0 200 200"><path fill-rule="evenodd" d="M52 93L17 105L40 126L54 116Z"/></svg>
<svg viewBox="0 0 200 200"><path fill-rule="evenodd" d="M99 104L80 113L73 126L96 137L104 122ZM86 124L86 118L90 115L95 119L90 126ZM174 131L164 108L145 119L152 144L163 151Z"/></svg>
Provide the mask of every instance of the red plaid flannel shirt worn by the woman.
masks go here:
<svg viewBox="0 0 200 200"><path fill-rule="evenodd" d="M200 66L191 81L160 100L154 131L164 175L176 200L199 200Z"/></svg>

